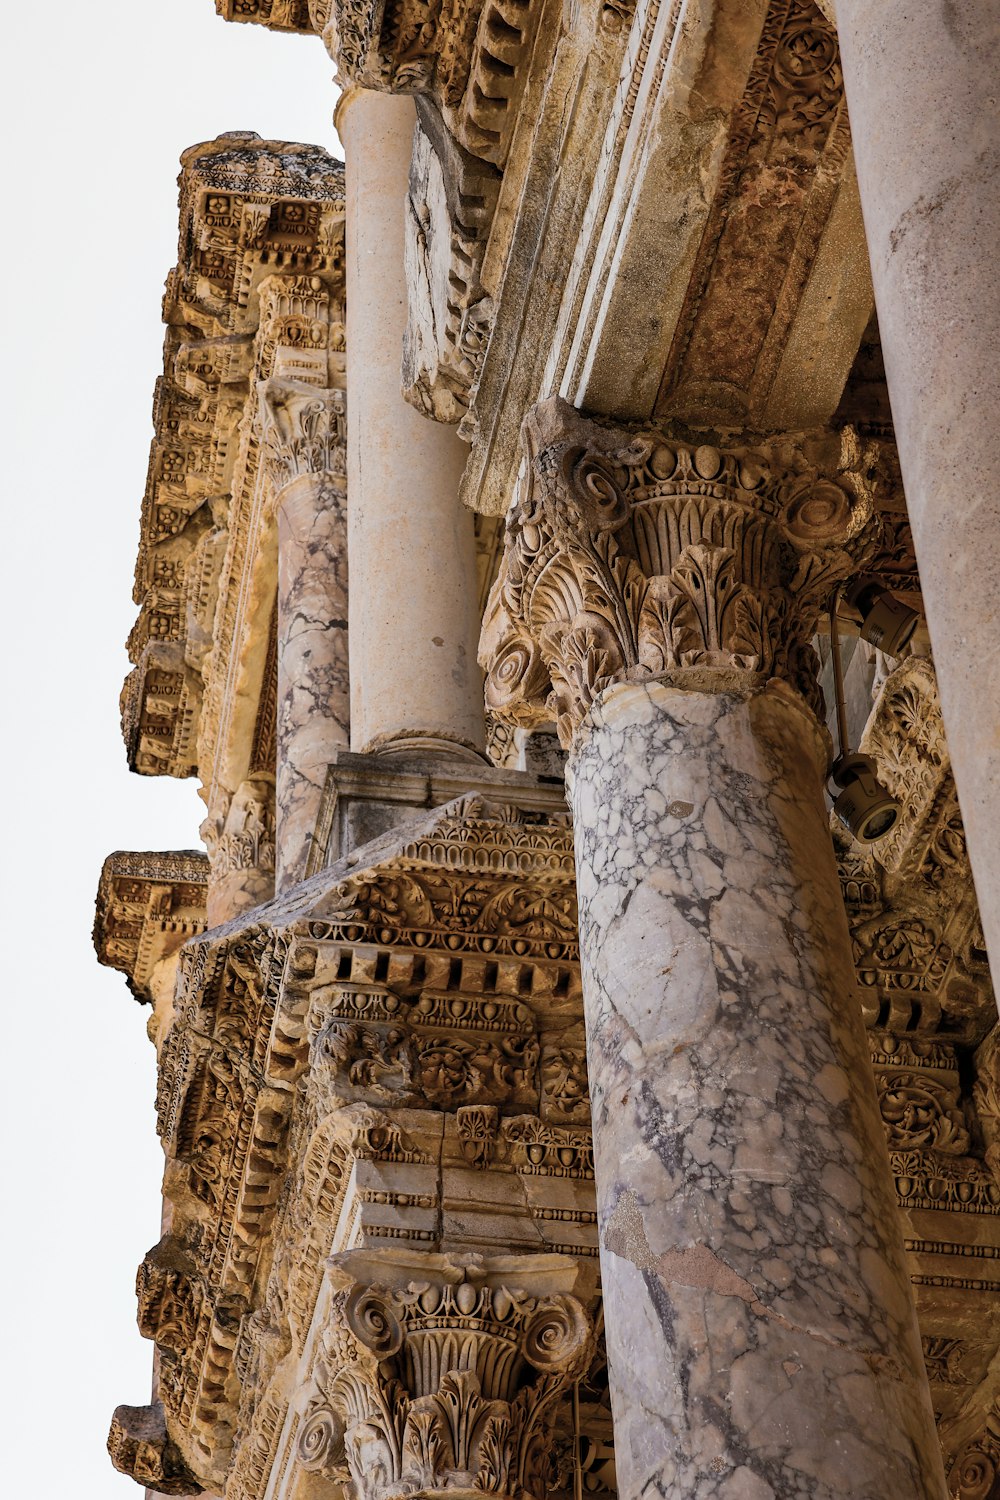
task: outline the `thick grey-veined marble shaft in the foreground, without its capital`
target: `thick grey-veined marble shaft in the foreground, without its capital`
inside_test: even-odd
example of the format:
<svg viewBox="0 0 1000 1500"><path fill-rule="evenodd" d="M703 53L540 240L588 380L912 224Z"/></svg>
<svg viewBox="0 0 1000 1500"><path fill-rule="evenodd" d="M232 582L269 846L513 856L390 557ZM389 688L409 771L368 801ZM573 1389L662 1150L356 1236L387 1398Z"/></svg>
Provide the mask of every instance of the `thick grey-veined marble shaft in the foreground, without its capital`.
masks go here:
<svg viewBox="0 0 1000 1500"><path fill-rule="evenodd" d="M622 1500L942 1500L798 696L610 688L570 762Z"/></svg>

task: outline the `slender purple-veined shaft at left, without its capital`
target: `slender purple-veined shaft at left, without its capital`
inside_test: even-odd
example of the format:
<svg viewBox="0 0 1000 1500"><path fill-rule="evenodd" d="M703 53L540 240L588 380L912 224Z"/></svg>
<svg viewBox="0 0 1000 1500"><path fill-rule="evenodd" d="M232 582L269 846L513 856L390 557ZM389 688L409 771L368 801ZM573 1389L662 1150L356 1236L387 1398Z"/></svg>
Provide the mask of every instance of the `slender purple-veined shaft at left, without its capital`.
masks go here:
<svg viewBox="0 0 1000 1500"><path fill-rule="evenodd" d="M337 748L349 742L346 500L306 474L277 496L277 876L306 861Z"/></svg>

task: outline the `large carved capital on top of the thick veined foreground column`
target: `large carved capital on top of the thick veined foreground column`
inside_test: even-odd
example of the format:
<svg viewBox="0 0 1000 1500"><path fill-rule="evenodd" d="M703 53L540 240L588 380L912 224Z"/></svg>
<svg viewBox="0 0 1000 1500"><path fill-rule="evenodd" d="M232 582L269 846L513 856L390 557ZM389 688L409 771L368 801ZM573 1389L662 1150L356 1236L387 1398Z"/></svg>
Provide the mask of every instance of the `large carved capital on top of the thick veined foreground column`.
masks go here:
<svg viewBox="0 0 1000 1500"><path fill-rule="evenodd" d="M810 638L879 522L852 429L721 447L582 417L525 423L528 472L481 640L487 706L568 746L613 682L783 676L820 706Z"/></svg>

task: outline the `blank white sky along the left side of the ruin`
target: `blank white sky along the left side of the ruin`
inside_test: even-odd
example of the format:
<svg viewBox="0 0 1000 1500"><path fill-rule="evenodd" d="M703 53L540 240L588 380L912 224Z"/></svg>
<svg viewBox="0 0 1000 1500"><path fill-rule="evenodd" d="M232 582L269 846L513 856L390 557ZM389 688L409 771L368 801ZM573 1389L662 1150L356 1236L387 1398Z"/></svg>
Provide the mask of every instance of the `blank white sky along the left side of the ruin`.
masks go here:
<svg viewBox="0 0 1000 1500"><path fill-rule="evenodd" d="M322 44L213 0L9 6L4 50L0 1485L139 1500L105 1438L148 1400L154 1054L90 930L106 854L198 848L195 783L130 776L118 732L178 156L222 130L342 153Z"/></svg>

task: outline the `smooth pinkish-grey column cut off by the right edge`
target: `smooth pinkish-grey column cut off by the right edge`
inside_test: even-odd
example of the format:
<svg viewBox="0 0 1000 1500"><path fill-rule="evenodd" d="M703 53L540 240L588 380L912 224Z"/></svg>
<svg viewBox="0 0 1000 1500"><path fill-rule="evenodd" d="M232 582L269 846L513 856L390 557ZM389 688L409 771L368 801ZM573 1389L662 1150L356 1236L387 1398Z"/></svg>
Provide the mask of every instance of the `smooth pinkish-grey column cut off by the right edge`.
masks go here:
<svg viewBox="0 0 1000 1500"><path fill-rule="evenodd" d="M1000 9L837 0L892 418L1000 978Z"/></svg>

